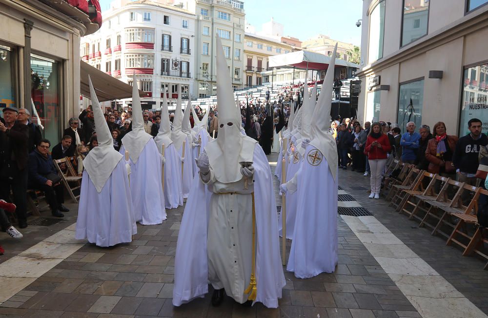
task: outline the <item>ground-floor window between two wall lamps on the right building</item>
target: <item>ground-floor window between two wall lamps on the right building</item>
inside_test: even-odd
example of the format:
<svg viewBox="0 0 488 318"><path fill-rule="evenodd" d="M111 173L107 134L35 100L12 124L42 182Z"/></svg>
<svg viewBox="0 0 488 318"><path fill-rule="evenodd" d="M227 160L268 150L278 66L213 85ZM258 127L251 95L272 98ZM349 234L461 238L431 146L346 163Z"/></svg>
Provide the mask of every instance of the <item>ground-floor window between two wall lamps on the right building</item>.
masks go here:
<svg viewBox="0 0 488 318"><path fill-rule="evenodd" d="M402 132L407 131L407 122L409 121L413 121L415 126L420 127L423 104L424 79L400 84L397 122Z"/></svg>

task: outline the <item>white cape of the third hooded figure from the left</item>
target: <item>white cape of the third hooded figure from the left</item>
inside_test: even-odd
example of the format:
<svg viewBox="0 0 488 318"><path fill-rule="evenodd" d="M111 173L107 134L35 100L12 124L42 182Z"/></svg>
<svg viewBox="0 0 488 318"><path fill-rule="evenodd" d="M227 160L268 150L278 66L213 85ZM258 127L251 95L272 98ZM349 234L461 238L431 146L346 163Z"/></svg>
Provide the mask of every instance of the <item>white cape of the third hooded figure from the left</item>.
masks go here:
<svg viewBox="0 0 488 318"><path fill-rule="evenodd" d="M166 209L175 209L183 205L180 155L171 143L164 150L164 203Z"/></svg>

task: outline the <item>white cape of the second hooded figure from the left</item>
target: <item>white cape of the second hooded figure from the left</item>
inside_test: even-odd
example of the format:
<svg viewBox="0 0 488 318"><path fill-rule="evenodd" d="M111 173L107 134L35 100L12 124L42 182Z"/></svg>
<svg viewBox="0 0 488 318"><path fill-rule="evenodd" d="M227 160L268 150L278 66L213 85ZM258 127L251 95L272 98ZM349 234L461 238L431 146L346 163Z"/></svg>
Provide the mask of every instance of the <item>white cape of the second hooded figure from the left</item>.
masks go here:
<svg viewBox="0 0 488 318"><path fill-rule="evenodd" d="M125 148L122 144L120 153ZM125 160L124 160L125 161ZM154 139L149 140L134 163L129 158L130 190L136 221L143 225L161 224L166 219L164 209L162 156Z"/></svg>

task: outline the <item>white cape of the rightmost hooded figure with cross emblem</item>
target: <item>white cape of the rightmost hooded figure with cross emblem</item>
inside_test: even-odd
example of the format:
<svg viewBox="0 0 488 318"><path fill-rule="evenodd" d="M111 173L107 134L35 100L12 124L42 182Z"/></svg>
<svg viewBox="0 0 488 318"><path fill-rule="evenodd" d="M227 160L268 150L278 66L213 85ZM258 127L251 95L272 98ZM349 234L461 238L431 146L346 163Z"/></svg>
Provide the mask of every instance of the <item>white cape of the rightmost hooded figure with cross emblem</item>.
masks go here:
<svg viewBox="0 0 488 318"><path fill-rule="evenodd" d="M297 216L286 270L297 278L332 273L337 265L337 181L324 155L310 164L317 149L308 144L297 172ZM313 161L312 161L313 162ZM318 164L317 164L318 163Z"/></svg>

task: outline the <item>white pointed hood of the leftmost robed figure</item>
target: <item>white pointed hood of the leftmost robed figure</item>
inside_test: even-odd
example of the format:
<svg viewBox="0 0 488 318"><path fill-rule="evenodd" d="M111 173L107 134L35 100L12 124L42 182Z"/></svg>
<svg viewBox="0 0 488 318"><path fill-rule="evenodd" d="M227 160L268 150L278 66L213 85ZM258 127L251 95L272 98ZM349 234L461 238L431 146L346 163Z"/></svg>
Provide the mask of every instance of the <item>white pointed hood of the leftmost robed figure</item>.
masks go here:
<svg viewBox="0 0 488 318"><path fill-rule="evenodd" d="M83 159L83 167L93 182L95 189L100 193L108 178L112 175L112 171L122 159L122 155L114 149L114 139L103 116L90 76L88 76L88 81L93 105L93 118L97 129L98 147L90 150L85 159Z"/></svg>

